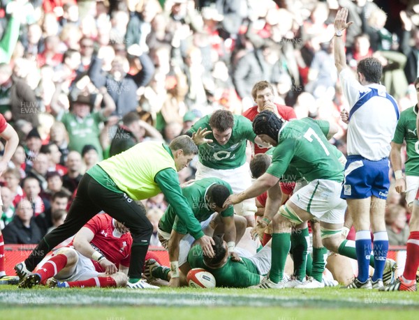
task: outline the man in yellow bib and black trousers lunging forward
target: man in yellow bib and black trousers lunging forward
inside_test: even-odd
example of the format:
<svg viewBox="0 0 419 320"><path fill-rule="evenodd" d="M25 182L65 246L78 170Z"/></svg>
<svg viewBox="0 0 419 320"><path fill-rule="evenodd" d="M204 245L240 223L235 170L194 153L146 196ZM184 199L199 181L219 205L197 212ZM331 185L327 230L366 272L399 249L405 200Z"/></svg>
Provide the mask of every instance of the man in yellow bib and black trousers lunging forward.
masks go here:
<svg viewBox="0 0 419 320"><path fill-rule="evenodd" d="M99 162L80 181L64 224L47 234L30 256L15 266L17 275L24 280L52 248L73 236L96 213L105 211L128 227L133 236L127 287L154 287L141 280L153 227L145 216L144 206L135 201L154 197L159 192L163 192L170 206L175 208L188 233L203 245L204 253L212 257L214 241L201 230L182 195L177 177L177 172L189 165L197 153L193 140L184 135L173 139L169 146L143 142ZM100 252L92 254L91 259L101 259ZM173 261L171 267L177 270L177 261Z"/></svg>

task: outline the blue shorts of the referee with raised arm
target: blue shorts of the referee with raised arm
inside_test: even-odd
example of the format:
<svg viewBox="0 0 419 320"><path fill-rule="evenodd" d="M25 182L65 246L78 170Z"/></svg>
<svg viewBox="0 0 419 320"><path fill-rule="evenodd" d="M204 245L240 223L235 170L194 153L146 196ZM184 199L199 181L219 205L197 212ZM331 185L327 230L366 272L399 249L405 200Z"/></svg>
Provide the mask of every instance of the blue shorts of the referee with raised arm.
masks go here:
<svg viewBox="0 0 419 320"><path fill-rule="evenodd" d="M390 179L388 158L367 160L360 155L349 155L345 166L342 199L365 199L371 196L387 199Z"/></svg>

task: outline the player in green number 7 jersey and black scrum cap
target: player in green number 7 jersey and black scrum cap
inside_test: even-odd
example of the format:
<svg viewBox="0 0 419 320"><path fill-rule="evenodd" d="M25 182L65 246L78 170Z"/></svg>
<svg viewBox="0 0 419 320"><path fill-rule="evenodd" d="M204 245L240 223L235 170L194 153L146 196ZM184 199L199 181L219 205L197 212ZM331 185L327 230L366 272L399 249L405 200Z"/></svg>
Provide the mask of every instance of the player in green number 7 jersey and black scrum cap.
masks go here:
<svg viewBox="0 0 419 320"><path fill-rule="evenodd" d="M340 198L344 167L332 150L335 146L326 139L334 134L330 124L309 118L287 122L272 112L264 111L253 121L253 130L274 146L272 164L251 188L230 196L225 205L256 197L267 190L264 218L253 229L253 234L262 235L267 224L273 220L272 268L260 287L284 288L288 282L283 273L291 247L291 227L307 220L320 220L322 243L328 250L356 258L355 247L341 237L346 210L346 201ZM295 191L291 199L281 206L279 180L287 170L299 173L308 184ZM382 280L382 274L374 273L375 288L383 287Z"/></svg>

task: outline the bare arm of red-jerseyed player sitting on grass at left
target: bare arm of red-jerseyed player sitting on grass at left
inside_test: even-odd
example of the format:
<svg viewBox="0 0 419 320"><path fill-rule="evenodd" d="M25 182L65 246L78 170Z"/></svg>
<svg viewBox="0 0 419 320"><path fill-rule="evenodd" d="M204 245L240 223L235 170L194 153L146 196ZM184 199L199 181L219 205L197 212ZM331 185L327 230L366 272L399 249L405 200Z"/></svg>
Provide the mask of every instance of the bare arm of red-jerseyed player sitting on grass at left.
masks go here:
<svg viewBox="0 0 419 320"><path fill-rule="evenodd" d="M90 242L94 238L94 232L87 227L82 227L73 240L73 247L89 259L98 261L98 263L105 269L106 273L112 275L118 271L117 266L112 264L103 254L94 250Z"/></svg>

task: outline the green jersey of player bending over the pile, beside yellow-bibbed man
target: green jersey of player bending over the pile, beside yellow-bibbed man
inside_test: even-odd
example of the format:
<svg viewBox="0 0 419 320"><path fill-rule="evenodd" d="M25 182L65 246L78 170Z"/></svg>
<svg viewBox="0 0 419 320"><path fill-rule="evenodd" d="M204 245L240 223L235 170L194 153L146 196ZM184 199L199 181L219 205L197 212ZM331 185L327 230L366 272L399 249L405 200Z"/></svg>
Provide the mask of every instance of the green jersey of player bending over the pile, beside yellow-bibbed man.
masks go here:
<svg viewBox="0 0 419 320"><path fill-rule="evenodd" d="M186 201L192 208L193 215L195 215L196 220L199 222L207 220L210 218L212 213L214 213L214 208L210 208L205 201L205 195L207 195L208 188L214 184L225 185L228 188L228 191L230 191L230 195L233 194L230 185L220 178L203 178L201 180L194 181L191 185L182 189L182 193L186 198ZM233 215L233 206L229 206L225 211L221 212L221 217L231 217ZM168 206L163 217L161 217L159 229L167 232L168 234L172 232L172 229L175 229L175 231L179 234L187 234L184 222L182 222L182 219L176 215L175 208L171 205Z"/></svg>

